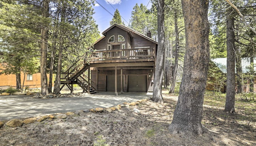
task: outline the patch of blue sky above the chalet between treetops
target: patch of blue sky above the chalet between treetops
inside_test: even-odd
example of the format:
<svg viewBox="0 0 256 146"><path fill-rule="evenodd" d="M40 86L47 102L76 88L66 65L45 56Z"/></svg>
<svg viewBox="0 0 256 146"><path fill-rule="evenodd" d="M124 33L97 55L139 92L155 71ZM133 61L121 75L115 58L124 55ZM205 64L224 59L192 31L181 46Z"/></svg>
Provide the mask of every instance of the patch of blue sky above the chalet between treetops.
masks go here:
<svg viewBox="0 0 256 146"><path fill-rule="evenodd" d="M120 15L129 23L131 19L131 14L133 11L133 7L136 3L140 5L149 5L147 8L151 8L152 3L149 2L150 0L97 0L103 7L105 7L110 13L114 15L114 8L117 8ZM109 3L114 7L112 7ZM95 2L96 3L96 2ZM112 20L113 16L110 15L104 8L102 8L98 3L93 6L95 14L93 14L93 18L96 20L96 24L98 24L98 28L100 33L106 30L110 24L109 22ZM125 25L128 25L127 22L124 21Z"/></svg>

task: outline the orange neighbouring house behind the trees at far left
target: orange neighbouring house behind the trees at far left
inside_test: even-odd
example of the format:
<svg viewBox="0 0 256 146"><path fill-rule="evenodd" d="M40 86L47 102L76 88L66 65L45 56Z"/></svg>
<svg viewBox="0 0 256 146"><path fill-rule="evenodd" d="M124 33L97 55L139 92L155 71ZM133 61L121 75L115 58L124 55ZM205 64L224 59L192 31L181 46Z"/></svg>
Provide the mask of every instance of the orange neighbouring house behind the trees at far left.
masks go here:
<svg viewBox="0 0 256 146"><path fill-rule="evenodd" d="M0 69L0 72L2 70ZM47 75L49 77L49 74ZM24 73L21 72L21 86L23 84ZM25 74L24 88L41 88L41 76L40 73ZM7 89L8 87L16 88L16 75L15 74L1 74L0 75L0 89Z"/></svg>

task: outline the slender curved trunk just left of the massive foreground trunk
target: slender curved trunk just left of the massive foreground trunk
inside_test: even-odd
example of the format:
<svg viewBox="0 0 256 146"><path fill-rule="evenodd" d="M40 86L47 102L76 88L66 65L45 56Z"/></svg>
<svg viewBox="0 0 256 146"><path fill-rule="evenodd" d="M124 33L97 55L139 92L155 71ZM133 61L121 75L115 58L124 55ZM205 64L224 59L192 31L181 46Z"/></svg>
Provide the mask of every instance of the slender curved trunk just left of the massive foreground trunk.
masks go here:
<svg viewBox="0 0 256 146"><path fill-rule="evenodd" d="M174 27L175 27L175 51L174 51L174 67L172 70L172 84L169 91L169 94L174 93L175 84L176 84L176 76L178 71L178 50L179 50L179 33L178 33L178 18L177 12L174 10Z"/></svg>

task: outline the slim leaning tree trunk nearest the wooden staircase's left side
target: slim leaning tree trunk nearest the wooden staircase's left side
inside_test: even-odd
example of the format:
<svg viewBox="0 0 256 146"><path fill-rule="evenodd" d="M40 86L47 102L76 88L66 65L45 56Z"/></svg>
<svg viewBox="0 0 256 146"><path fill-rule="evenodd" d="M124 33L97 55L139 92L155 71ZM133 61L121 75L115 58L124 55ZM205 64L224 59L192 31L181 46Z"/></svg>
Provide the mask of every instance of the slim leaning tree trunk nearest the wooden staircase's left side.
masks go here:
<svg viewBox="0 0 256 146"><path fill-rule="evenodd" d="M65 7L64 3L62 4L62 10L61 10L61 25L65 21L64 13L65 13ZM61 86L61 69L62 69L62 50L63 50L63 30L61 29L59 34L59 53L58 53L58 66L57 66L57 73L56 73L56 79L54 83L54 89L53 92L55 94L59 94L60 92L60 86Z"/></svg>

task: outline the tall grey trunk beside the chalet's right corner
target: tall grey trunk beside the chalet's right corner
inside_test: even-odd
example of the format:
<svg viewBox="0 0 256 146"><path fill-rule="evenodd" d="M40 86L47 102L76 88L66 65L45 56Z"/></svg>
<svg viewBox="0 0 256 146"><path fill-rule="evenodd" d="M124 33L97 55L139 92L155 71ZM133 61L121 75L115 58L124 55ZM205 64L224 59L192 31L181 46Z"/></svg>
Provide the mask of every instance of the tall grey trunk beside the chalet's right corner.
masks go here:
<svg viewBox="0 0 256 146"><path fill-rule="evenodd" d="M154 102L163 103L162 85L165 62L164 0L158 0L157 3L157 35L158 48L152 100Z"/></svg>

